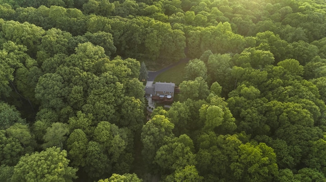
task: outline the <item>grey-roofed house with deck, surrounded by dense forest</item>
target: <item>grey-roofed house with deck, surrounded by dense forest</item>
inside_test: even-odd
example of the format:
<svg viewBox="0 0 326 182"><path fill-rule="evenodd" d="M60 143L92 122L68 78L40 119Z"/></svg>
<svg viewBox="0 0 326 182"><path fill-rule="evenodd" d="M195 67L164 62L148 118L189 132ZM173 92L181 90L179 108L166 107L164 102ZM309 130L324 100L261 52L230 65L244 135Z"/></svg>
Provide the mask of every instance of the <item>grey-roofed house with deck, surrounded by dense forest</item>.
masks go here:
<svg viewBox="0 0 326 182"><path fill-rule="evenodd" d="M145 93L158 102L172 102L174 89L174 83L156 82L152 85L146 85Z"/></svg>

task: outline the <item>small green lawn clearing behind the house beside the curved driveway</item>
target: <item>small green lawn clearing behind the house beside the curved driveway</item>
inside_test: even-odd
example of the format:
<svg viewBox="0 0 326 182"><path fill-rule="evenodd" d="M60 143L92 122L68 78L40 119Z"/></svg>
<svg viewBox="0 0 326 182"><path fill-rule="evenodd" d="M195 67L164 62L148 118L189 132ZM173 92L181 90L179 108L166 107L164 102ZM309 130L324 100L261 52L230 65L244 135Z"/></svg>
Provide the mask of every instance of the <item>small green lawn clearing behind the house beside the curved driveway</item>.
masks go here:
<svg viewBox="0 0 326 182"><path fill-rule="evenodd" d="M155 82L172 82L179 85L183 81L185 65L186 63L180 63L171 69L162 72L155 78Z"/></svg>

